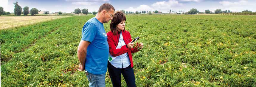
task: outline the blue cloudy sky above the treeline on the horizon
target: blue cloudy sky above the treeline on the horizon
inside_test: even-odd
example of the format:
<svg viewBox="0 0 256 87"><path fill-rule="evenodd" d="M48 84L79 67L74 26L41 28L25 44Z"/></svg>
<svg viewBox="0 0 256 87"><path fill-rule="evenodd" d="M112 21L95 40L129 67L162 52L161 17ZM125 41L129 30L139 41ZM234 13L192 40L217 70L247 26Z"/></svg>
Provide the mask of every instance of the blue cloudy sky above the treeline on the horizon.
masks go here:
<svg viewBox="0 0 256 87"><path fill-rule="evenodd" d="M74 12L75 9L88 9L88 12L98 11L100 5L109 3L117 10L131 12L141 11L161 11L167 13L172 10L175 12L187 12L192 8L199 12L205 12L209 9L214 12L215 9L230 10L232 12L241 12L250 10L256 12L256 0L0 0L0 6L6 12L13 12L13 2L24 8L37 8L41 11L49 12Z"/></svg>

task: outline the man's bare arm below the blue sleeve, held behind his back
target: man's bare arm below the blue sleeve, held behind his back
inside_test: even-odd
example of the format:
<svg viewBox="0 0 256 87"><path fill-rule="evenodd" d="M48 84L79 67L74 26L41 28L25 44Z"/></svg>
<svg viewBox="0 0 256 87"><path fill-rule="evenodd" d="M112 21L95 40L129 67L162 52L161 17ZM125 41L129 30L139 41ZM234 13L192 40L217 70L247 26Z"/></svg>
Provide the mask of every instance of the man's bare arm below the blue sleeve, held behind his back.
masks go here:
<svg viewBox="0 0 256 87"><path fill-rule="evenodd" d="M81 40L78 48L77 48L77 58L80 62L79 64L79 71L83 71L85 69L85 59L86 59L86 53L87 53L87 47L89 46L91 42Z"/></svg>

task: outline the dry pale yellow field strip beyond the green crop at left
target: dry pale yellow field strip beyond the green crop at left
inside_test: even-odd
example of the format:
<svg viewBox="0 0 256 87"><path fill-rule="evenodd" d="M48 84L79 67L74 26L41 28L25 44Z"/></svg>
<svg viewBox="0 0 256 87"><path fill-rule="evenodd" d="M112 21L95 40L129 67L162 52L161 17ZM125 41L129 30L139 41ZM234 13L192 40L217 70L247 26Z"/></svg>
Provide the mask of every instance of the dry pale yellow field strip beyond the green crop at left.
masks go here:
<svg viewBox="0 0 256 87"><path fill-rule="evenodd" d="M0 17L0 29L18 27L27 24L35 24L52 19L58 19L70 16L2 16Z"/></svg>

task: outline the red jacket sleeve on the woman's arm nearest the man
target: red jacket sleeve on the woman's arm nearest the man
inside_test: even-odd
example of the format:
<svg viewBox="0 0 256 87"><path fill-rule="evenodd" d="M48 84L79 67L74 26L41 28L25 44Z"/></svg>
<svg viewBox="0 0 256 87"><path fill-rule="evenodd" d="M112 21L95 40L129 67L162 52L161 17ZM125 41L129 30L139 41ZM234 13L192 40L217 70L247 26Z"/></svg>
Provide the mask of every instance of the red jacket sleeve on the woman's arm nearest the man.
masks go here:
<svg viewBox="0 0 256 87"><path fill-rule="evenodd" d="M123 45L121 48L117 49L116 45L114 44L113 34L108 33L108 46L109 46L109 53L112 56L119 56L129 51L129 48L126 45Z"/></svg>

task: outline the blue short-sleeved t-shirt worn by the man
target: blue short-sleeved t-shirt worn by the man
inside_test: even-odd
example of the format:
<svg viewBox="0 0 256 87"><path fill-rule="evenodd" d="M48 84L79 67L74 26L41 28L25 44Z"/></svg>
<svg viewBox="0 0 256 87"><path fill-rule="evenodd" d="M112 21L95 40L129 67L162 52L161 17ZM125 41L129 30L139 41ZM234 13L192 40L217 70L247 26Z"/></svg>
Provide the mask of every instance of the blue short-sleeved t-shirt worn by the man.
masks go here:
<svg viewBox="0 0 256 87"><path fill-rule="evenodd" d="M91 42L87 47L85 70L92 74L107 72L108 37L103 24L95 17L83 26L82 39Z"/></svg>

